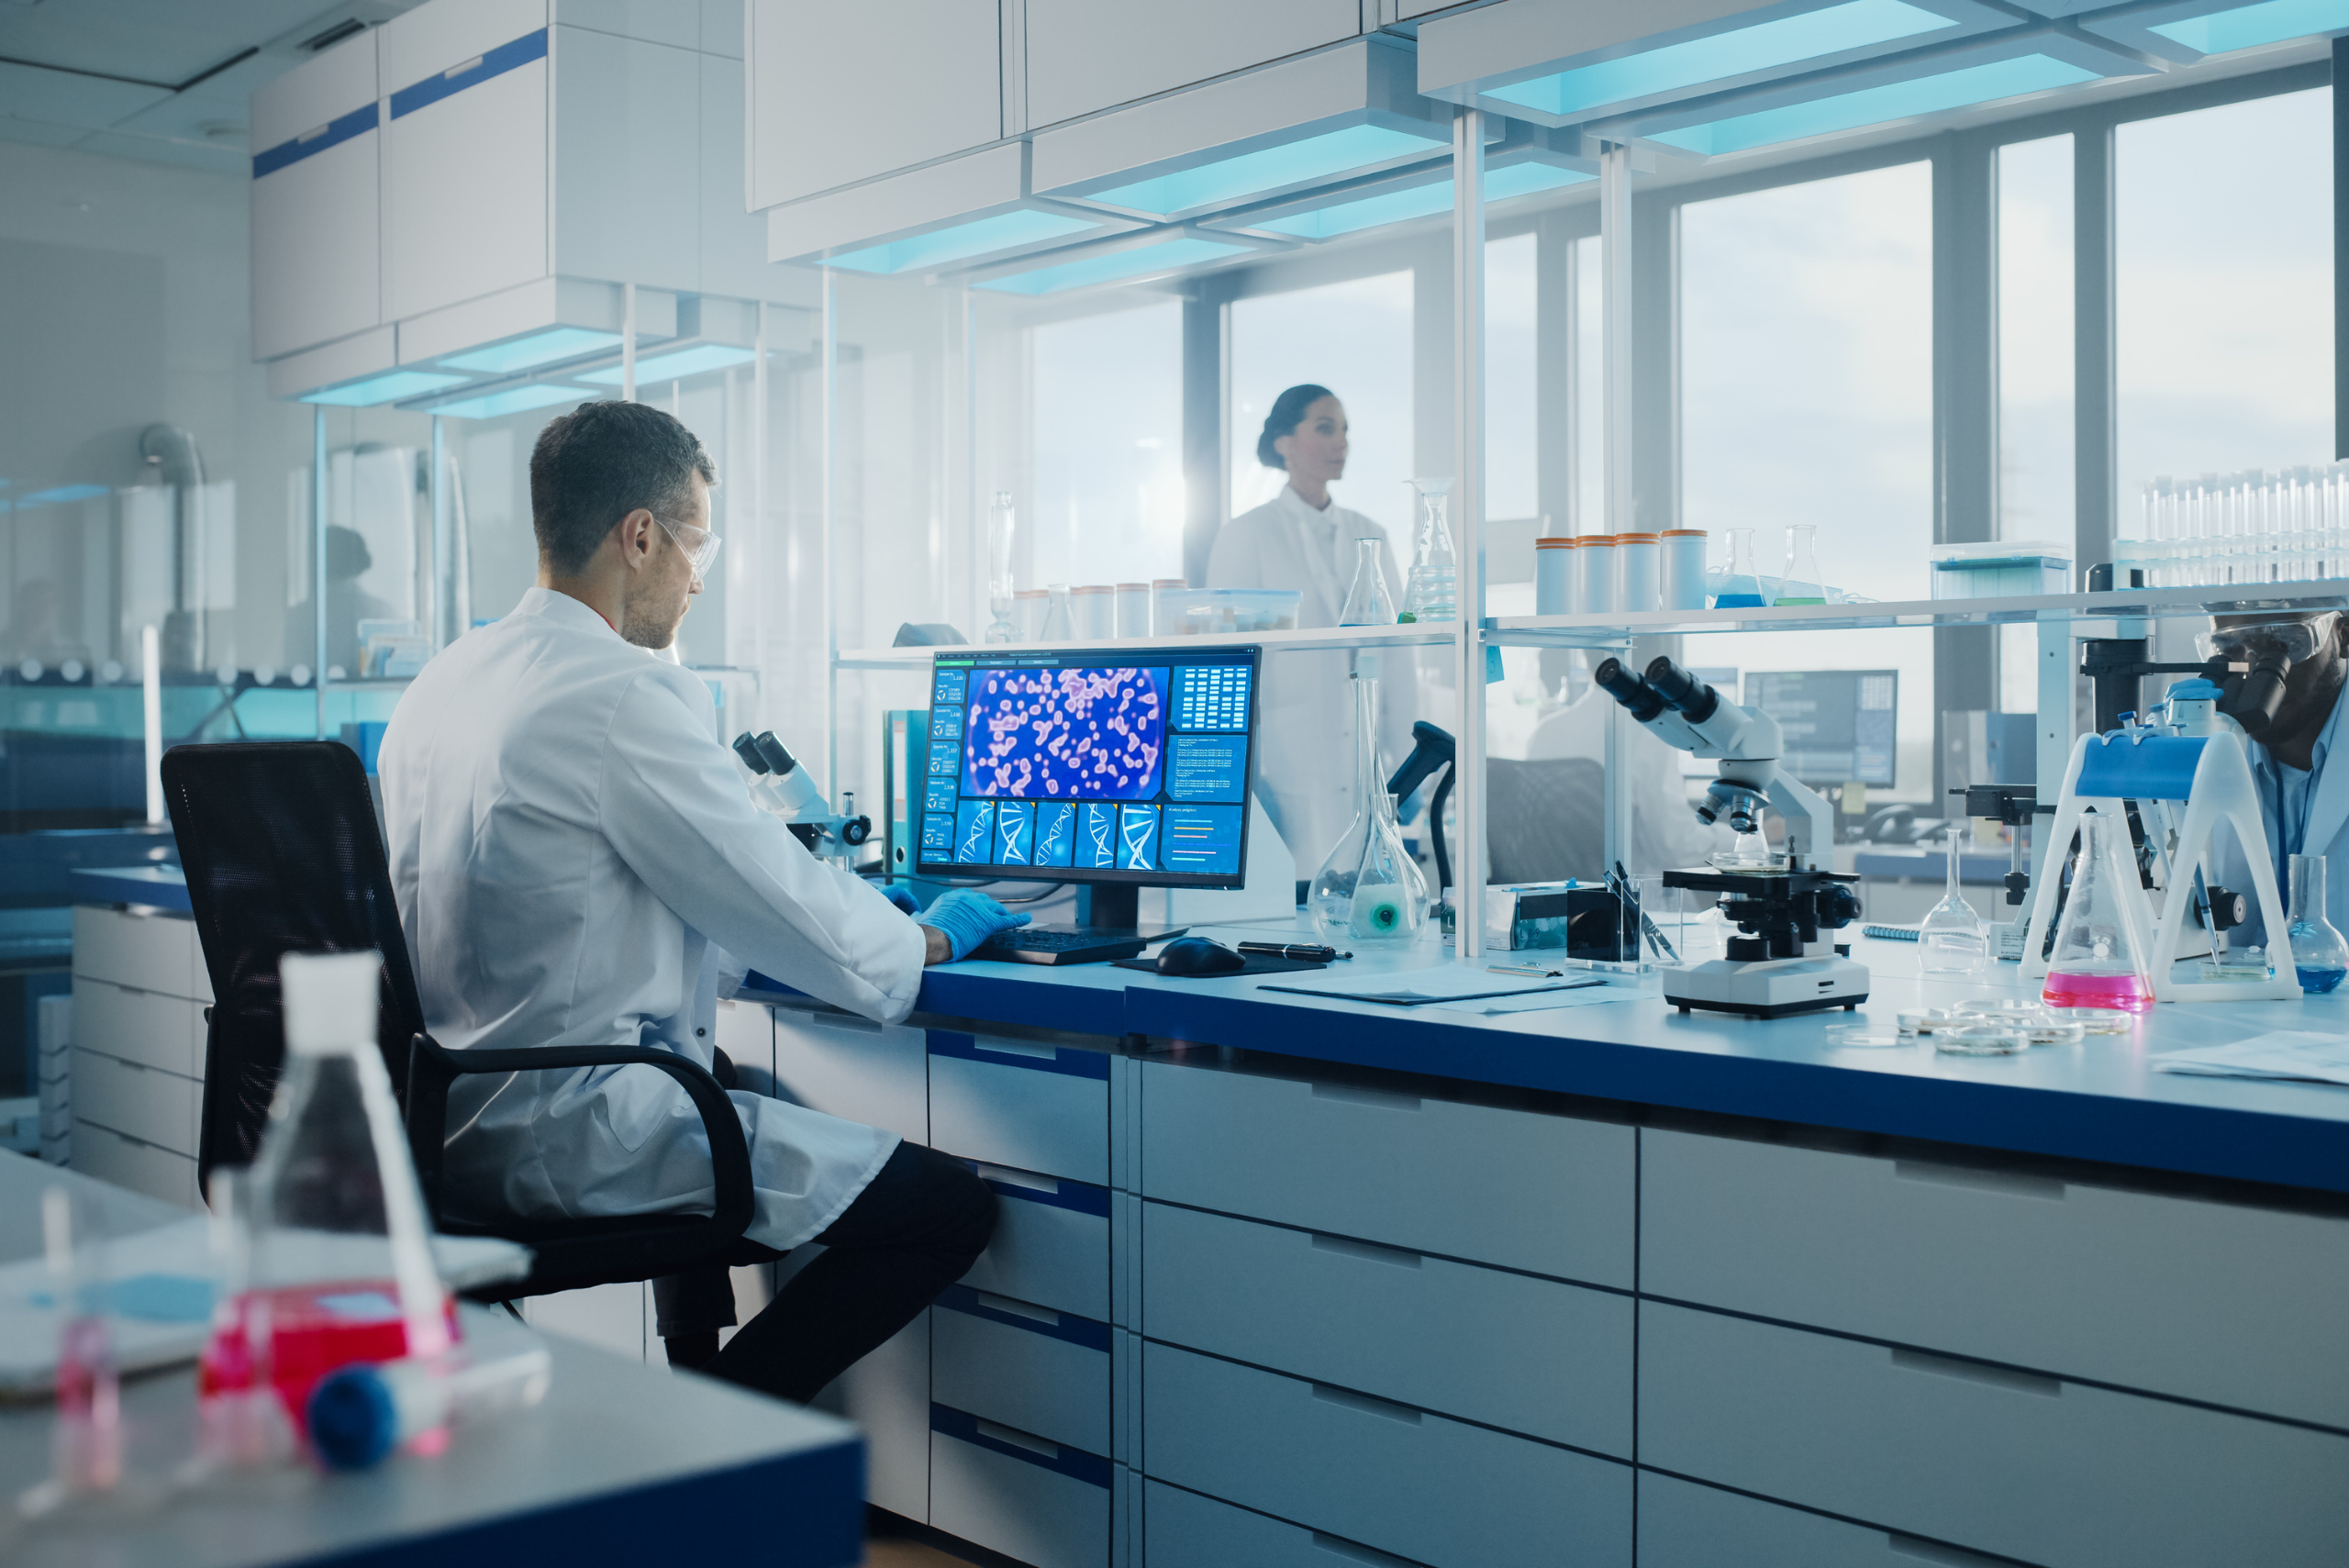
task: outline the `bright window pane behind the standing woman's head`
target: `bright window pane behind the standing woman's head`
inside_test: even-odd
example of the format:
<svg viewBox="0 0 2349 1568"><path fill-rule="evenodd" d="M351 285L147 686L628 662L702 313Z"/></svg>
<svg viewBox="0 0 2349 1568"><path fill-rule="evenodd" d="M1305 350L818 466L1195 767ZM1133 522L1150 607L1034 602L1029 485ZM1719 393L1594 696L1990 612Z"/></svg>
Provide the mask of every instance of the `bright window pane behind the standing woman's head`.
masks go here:
<svg viewBox="0 0 2349 1568"><path fill-rule="evenodd" d="M1236 300L1231 516L1280 495L1280 472L1257 462L1257 437L1285 387L1315 383L1346 404L1351 430L1346 477L1332 495L1386 528L1398 561L1409 566L1409 479L1419 472L1412 451L1412 359L1409 272Z"/></svg>

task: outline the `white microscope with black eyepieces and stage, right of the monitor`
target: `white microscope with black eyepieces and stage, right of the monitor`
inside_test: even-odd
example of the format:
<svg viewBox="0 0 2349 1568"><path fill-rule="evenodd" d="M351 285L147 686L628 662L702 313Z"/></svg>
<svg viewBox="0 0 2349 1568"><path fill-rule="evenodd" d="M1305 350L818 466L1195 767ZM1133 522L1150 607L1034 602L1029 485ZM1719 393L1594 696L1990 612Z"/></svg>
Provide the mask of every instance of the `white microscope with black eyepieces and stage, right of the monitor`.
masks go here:
<svg viewBox="0 0 2349 1568"><path fill-rule="evenodd" d="M1759 833L1766 807L1785 819L1785 864L1665 871L1665 887L1715 892L1738 934L1729 955L1701 965L1668 965L1663 1000L1680 1012L1705 1007L1752 1019L1783 1019L1828 1007L1856 1009L1867 1000L1867 969L1851 962L1832 932L1860 918L1853 876L1816 866L1835 843L1835 815L1811 789L1778 768L1778 721L1722 695L1672 660L1656 660L1637 676L1607 660L1590 676L1649 735L1691 756L1715 758L1715 779L1696 819L1727 822L1736 833ZM1769 861L1769 857L1757 857Z"/></svg>

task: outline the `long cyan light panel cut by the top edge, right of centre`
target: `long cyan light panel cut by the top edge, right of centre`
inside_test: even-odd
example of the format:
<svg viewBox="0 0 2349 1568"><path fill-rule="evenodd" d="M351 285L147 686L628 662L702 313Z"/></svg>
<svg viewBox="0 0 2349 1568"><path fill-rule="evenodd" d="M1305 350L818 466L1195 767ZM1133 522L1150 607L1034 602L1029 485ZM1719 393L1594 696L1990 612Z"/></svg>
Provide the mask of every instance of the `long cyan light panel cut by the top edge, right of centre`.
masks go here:
<svg viewBox="0 0 2349 1568"><path fill-rule="evenodd" d="M1802 61L1900 42L1924 33L1954 28L1947 16L1903 5L1903 0L1849 0L1802 16L1781 16L1684 45L1642 49L1623 59L1560 70L1508 87L1487 87L1487 99L1569 117L1583 110L1630 103L1654 94L1684 94L1708 82L1799 66Z"/></svg>

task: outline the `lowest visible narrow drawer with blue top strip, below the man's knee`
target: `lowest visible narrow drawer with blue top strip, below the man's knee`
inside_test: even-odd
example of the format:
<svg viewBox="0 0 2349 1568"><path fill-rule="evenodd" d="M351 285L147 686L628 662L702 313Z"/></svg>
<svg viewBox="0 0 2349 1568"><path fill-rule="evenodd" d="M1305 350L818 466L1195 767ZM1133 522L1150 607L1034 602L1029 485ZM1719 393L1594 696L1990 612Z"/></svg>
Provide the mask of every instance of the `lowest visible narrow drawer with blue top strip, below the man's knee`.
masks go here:
<svg viewBox="0 0 2349 1568"><path fill-rule="evenodd" d="M1106 1568L1109 1460L930 1406L930 1523L1034 1568Z"/></svg>

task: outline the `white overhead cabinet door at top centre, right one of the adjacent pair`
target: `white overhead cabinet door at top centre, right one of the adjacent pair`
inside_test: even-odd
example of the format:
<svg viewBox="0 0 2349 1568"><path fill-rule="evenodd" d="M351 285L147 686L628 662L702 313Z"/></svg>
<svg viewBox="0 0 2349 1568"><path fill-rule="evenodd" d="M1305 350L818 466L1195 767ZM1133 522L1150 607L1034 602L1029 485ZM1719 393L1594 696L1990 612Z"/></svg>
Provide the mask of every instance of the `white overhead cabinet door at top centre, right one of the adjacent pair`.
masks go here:
<svg viewBox="0 0 2349 1568"><path fill-rule="evenodd" d="M1029 0L1027 127L1247 70L1362 31L1360 0Z"/></svg>

